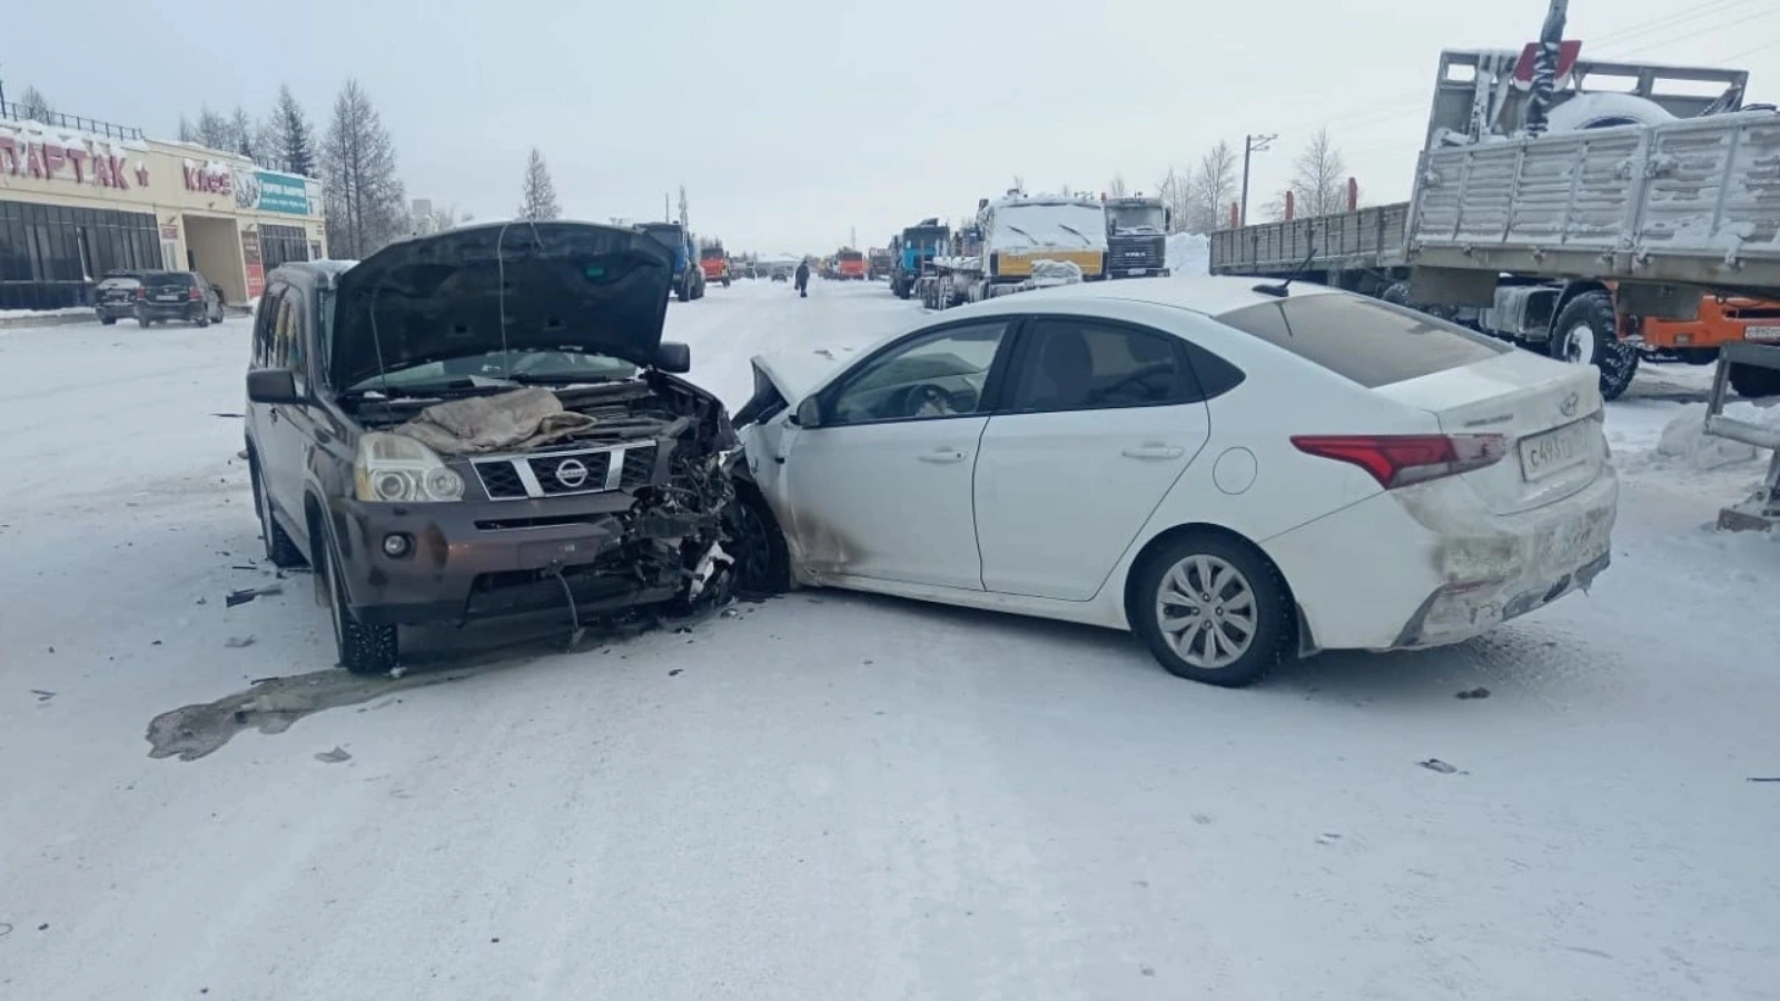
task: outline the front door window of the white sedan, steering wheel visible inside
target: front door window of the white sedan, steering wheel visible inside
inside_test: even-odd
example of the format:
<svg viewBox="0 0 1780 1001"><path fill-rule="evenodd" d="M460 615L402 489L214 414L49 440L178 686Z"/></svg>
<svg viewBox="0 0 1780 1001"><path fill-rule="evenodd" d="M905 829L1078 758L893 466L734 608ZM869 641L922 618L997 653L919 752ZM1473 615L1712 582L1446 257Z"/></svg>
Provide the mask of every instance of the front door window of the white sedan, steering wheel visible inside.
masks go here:
<svg viewBox="0 0 1780 1001"><path fill-rule="evenodd" d="M833 397L824 424L963 417L983 408L1007 321L951 326L872 358Z"/></svg>

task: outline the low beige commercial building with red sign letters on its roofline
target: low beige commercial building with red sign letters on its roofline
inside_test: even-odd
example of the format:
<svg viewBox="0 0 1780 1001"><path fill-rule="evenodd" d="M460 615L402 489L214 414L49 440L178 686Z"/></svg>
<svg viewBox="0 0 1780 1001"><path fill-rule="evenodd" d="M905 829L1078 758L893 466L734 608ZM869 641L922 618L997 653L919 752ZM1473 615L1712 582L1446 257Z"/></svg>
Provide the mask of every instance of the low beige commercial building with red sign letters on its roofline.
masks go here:
<svg viewBox="0 0 1780 1001"><path fill-rule="evenodd" d="M0 310L85 306L112 269L198 271L246 303L324 256L320 182L135 128L0 107Z"/></svg>

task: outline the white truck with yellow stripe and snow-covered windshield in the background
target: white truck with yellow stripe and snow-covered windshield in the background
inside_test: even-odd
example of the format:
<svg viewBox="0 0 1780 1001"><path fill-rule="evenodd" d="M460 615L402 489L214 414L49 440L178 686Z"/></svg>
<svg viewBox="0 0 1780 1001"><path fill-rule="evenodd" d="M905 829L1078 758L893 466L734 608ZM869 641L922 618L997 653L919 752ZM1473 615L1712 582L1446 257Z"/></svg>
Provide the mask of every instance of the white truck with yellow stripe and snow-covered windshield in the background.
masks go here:
<svg viewBox="0 0 1780 1001"><path fill-rule="evenodd" d="M959 253L940 255L915 283L922 305L943 310L995 296L1107 274L1105 207L1086 196L1009 191L977 201Z"/></svg>

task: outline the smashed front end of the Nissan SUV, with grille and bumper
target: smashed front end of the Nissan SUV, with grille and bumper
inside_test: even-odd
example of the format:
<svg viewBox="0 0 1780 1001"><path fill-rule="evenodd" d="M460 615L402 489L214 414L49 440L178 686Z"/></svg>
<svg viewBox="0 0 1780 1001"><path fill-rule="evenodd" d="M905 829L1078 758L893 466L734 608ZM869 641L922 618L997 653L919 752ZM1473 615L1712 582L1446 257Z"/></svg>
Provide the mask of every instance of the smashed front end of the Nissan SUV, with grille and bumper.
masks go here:
<svg viewBox="0 0 1780 1001"><path fill-rule="evenodd" d="M379 467L374 458L360 463L356 479L370 488L338 497L331 509L352 614L367 625L411 625L564 609L586 622L632 606L716 598L730 563L723 541L733 499L723 465L735 435L723 404L659 372L475 399L522 394L555 395L564 413L595 422L539 447L440 454L393 431L402 426L397 408L360 411L370 447L392 452L386 470L461 483L461 493L441 502L365 500L379 492ZM390 438L406 442L392 447Z"/></svg>

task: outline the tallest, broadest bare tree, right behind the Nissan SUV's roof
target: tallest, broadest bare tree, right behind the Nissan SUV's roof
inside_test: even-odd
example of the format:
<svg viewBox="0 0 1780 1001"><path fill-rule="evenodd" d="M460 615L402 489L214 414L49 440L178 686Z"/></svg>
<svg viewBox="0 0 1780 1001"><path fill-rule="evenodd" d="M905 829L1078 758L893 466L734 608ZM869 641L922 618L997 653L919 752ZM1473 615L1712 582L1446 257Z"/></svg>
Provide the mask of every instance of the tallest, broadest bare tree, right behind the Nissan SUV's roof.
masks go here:
<svg viewBox="0 0 1780 1001"><path fill-rule="evenodd" d="M409 232L395 142L358 80L335 98L320 173L333 256L363 258Z"/></svg>

